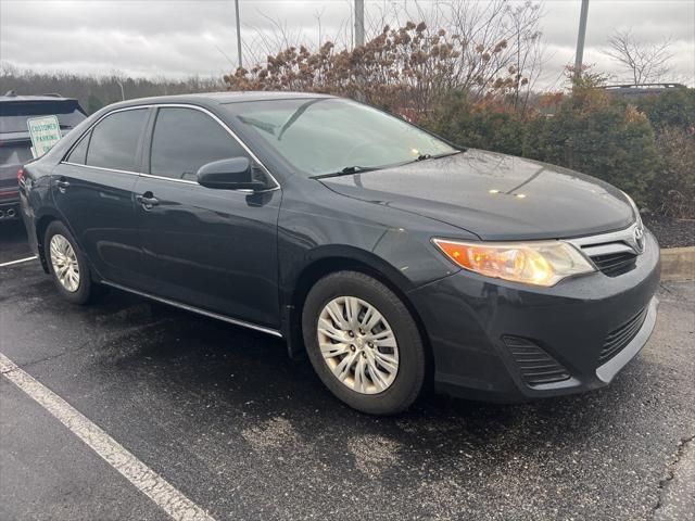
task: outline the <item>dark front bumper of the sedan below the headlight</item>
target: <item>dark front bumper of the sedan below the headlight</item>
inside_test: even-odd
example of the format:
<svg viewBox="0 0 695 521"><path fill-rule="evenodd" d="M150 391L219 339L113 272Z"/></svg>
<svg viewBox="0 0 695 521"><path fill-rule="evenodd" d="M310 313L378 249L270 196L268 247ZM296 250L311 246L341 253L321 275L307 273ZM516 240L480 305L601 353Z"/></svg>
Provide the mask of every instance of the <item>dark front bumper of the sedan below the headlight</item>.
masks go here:
<svg viewBox="0 0 695 521"><path fill-rule="evenodd" d="M439 392L517 402L608 384L656 322L659 246L646 233L635 267L554 288L468 271L409 293L427 330Z"/></svg>

